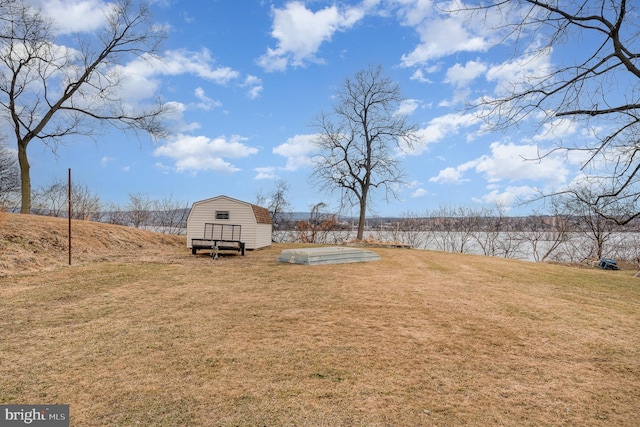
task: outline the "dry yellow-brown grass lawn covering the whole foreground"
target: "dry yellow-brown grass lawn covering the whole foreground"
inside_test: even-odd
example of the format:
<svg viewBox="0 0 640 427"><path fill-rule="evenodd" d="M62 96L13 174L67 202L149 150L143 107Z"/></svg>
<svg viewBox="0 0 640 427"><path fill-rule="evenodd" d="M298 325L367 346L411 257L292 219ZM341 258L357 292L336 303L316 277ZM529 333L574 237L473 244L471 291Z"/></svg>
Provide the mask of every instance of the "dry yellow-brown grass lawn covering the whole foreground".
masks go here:
<svg viewBox="0 0 640 427"><path fill-rule="evenodd" d="M6 238L11 217L0 245L34 249L36 235ZM0 278L0 403L69 403L75 426L640 417L632 271L386 248L370 263L276 263L287 245L214 261L99 228L86 238L110 240L77 265L61 248L46 270Z"/></svg>

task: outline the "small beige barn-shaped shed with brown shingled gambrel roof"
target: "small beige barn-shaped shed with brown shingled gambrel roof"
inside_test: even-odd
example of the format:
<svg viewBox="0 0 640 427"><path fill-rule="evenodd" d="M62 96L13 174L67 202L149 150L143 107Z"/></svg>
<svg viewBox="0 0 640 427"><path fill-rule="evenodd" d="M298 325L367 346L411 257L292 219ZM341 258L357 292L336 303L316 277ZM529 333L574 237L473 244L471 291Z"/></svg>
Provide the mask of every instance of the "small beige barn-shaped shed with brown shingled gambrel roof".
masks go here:
<svg viewBox="0 0 640 427"><path fill-rule="evenodd" d="M189 249L194 249L193 239L211 238L205 236L205 229L211 230L211 224L220 225L214 229L216 233L224 233L224 239L242 241L246 249L271 246L271 215L261 206L227 196L195 202L187 218Z"/></svg>

